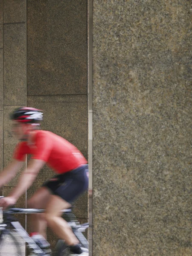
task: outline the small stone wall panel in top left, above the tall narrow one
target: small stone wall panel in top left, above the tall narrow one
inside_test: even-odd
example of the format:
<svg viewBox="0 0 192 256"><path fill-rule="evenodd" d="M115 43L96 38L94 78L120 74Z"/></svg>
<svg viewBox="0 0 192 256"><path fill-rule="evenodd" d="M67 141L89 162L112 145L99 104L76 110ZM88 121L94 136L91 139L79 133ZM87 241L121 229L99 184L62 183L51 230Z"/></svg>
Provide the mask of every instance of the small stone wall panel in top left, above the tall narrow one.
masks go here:
<svg viewBox="0 0 192 256"><path fill-rule="evenodd" d="M3 23L25 21L26 0L3 0Z"/></svg>

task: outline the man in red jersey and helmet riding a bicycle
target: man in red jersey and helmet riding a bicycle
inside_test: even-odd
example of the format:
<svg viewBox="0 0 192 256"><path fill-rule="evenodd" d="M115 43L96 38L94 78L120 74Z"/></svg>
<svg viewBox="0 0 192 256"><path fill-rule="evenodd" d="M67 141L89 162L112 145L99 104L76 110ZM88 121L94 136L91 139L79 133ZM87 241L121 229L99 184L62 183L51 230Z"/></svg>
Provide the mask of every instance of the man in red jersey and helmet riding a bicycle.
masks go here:
<svg viewBox="0 0 192 256"><path fill-rule="evenodd" d="M10 195L0 201L3 208L14 205L28 189L47 163L57 175L45 182L28 201L28 207L46 209L44 215L35 214L33 232L38 233L39 244L44 244L47 225L70 246L71 255L88 255L82 251L79 240L67 222L61 218L61 210L88 188L88 165L81 152L70 142L49 131L38 129L43 113L36 108L17 108L12 114L12 132L20 142L15 148L13 160L0 174L0 187L9 182L19 171L26 154L31 154L27 169L20 176ZM45 238L45 239L44 239Z"/></svg>

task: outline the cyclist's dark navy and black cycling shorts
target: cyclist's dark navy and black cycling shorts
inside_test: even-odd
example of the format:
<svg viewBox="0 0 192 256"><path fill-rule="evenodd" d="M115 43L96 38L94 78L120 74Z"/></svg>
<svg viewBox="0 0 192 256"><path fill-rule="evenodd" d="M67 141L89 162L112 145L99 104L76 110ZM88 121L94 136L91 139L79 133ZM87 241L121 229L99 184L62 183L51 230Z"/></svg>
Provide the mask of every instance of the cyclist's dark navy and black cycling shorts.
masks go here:
<svg viewBox="0 0 192 256"><path fill-rule="evenodd" d="M55 175L42 186L47 187L52 194L72 203L88 189L88 175L88 165L83 165L70 172Z"/></svg>

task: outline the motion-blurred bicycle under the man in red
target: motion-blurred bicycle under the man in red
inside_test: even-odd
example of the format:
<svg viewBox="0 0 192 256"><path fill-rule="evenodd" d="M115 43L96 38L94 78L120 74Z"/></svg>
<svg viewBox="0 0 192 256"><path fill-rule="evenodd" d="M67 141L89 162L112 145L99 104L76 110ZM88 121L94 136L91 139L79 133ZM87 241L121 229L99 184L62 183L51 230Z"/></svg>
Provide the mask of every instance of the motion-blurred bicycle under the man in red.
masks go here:
<svg viewBox="0 0 192 256"><path fill-rule="evenodd" d="M44 251L24 230L20 222L13 217L16 213L32 214L40 212L44 212L44 209L9 208L3 211L3 221L0 223L0 256L25 256L26 247L30 256L46 256ZM79 239L82 250L88 253L88 241L82 232L89 227L89 223L79 224L76 216L72 213L72 209L65 209L62 212L63 218L70 224L73 233ZM69 253L70 249L67 244L59 239L51 256L68 256Z"/></svg>

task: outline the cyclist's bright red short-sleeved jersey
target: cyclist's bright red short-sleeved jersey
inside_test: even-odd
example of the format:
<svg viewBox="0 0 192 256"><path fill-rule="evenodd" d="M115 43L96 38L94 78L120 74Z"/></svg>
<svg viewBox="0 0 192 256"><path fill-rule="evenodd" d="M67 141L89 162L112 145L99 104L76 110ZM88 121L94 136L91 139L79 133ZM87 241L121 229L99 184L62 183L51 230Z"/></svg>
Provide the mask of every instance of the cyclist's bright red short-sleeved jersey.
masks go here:
<svg viewBox="0 0 192 256"><path fill-rule="evenodd" d="M87 164L87 160L74 145L50 131L37 130L33 145L18 143L14 158L23 161L26 154L32 154L32 159L44 160L58 174Z"/></svg>

